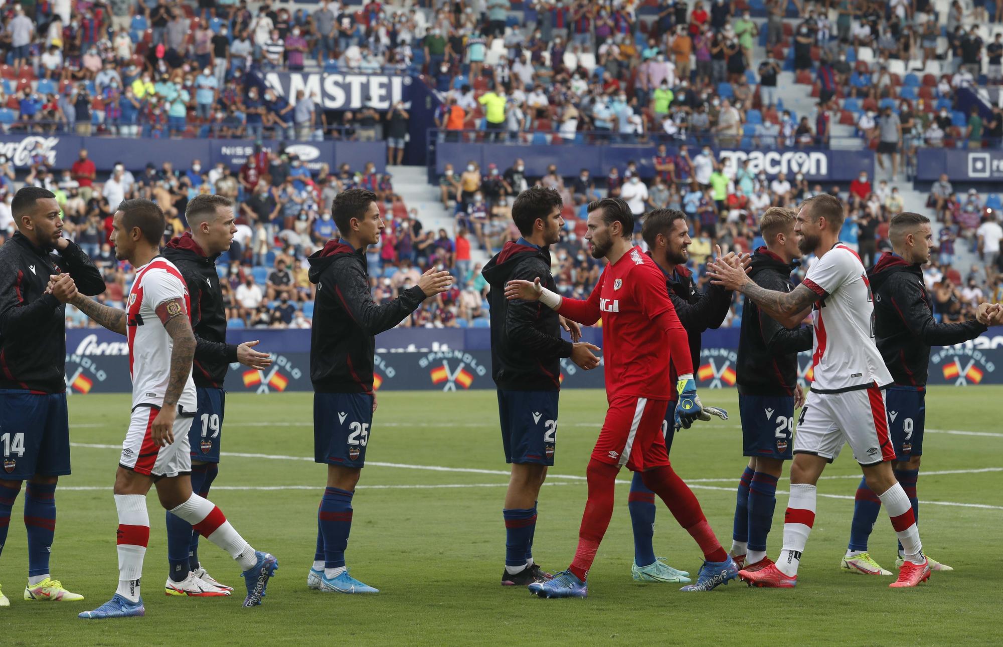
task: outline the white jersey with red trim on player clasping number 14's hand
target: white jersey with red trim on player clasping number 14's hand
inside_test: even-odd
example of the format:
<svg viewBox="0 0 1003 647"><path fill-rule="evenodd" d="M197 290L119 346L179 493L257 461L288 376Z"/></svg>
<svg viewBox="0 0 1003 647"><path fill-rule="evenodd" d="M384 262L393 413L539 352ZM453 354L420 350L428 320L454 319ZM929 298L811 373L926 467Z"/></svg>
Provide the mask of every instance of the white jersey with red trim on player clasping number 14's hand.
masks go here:
<svg viewBox="0 0 1003 647"><path fill-rule="evenodd" d="M125 307L133 409L139 405L160 407L163 404L175 343L156 314L156 306L174 298L184 301L185 315L191 319L188 287L173 262L156 256L136 269ZM191 369L178 405L183 412L192 415L199 409Z"/></svg>

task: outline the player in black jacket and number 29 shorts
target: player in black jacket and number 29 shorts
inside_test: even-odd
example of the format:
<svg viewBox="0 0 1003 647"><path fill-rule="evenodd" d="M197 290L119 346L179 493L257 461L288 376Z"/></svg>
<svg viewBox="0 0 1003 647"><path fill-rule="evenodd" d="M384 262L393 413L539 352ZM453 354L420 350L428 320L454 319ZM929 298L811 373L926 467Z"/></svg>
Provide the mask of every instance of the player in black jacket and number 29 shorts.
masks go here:
<svg viewBox="0 0 1003 647"><path fill-rule="evenodd" d="M766 209L759 231L766 242L752 254L749 278L766 289L788 292L790 271L801 252L794 235L795 211ZM780 325L751 299L742 308L738 338L738 413L742 421L742 452L748 466L738 482L731 556L746 571L772 562L766 557L766 537L776 507L776 482L783 462L791 459L794 410L804 404L797 386L797 354L811 349L811 330L799 321Z"/></svg>

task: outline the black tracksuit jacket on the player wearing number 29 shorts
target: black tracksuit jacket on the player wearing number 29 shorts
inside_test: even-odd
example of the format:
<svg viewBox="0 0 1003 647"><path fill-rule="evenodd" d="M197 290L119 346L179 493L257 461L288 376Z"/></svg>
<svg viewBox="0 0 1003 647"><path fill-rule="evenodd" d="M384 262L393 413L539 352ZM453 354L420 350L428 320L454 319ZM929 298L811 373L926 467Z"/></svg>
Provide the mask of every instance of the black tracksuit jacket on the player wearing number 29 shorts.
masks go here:
<svg viewBox="0 0 1003 647"><path fill-rule="evenodd" d="M786 263L766 247L752 254L749 277L766 289L789 292L794 284ZM738 338L738 393L743 396L793 396L797 388L797 354L811 350L811 329L789 330L766 314L751 298L742 308Z"/></svg>

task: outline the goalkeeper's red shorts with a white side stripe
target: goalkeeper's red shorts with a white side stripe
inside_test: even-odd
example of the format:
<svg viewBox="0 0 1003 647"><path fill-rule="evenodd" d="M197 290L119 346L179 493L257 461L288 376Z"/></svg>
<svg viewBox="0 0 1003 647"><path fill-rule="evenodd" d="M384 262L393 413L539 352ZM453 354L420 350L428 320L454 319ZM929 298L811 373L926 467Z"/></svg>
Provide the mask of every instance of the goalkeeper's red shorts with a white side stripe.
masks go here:
<svg viewBox="0 0 1003 647"><path fill-rule="evenodd" d="M669 465L663 429L668 424L665 420L668 406L667 400L614 397L592 458L618 467L626 465L631 472Z"/></svg>

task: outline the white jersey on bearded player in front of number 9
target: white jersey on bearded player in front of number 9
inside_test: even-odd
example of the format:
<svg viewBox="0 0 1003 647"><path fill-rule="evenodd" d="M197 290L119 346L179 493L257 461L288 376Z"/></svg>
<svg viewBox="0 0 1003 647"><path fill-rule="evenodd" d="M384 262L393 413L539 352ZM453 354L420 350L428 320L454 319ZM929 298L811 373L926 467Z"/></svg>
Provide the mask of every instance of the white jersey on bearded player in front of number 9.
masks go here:
<svg viewBox="0 0 1003 647"><path fill-rule="evenodd" d="M875 345L871 281L857 252L835 243L812 263L803 284L822 296L811 309L811 391L891 384L892 374Z"/></svg>

